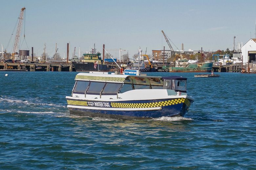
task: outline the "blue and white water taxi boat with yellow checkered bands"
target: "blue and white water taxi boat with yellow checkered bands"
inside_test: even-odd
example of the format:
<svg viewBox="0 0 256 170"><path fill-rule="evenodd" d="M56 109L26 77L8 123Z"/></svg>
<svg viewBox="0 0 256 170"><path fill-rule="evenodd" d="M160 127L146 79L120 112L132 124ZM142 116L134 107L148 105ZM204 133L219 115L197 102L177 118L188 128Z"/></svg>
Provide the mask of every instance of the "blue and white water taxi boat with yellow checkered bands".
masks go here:
<svg viewBox="0 0 256 170"><path fill-rule="evenodd" d="M109 72L79 73L71 96L66 96L70 114L119 120L184 116L194 98L187 95L180 76L139 75Z"/></svg>

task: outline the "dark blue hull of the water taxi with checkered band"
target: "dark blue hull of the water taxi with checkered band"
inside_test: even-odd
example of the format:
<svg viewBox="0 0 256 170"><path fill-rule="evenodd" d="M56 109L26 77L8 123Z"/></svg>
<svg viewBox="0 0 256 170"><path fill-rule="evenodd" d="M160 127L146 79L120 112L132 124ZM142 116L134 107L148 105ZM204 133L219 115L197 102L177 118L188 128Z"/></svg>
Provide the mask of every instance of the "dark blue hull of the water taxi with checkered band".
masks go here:
<svg viewBox="0 0 256 170"><path fill-rule="evenodd" d="M184 116L192 102L187 98L124 102L68 100L68 108L70 114L79 116L133 120Z"/></svg>

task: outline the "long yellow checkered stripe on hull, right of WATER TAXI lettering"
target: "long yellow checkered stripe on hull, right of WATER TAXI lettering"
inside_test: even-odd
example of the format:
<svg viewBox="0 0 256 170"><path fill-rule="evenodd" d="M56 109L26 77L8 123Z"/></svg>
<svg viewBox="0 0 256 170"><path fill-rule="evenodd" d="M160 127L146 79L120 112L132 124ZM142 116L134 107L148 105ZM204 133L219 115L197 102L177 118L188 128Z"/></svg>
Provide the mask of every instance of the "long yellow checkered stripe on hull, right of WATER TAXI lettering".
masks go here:
<svg viewBox="0 0 256 170"><path fill-rule="evenodd" d="M113 108L154 108L184 103L184 98L152 103L111 103Z"/></svg>

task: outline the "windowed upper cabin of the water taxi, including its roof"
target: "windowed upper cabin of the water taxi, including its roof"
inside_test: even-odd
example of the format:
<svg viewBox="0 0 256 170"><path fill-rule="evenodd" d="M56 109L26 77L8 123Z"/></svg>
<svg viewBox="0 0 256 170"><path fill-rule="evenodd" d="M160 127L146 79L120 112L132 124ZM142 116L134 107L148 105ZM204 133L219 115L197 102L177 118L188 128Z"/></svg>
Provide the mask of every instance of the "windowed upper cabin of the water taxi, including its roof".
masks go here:
<svg viewBox="0 0 256 170"><path fill-rule="evenodd" d="M180 76L114 75L107 72L79 73L75 77L72 96L78 94L117 95L137 89L167 89L171 95L186 93L186 80ZM153 92L153 91L152 91Z"/></svg>

